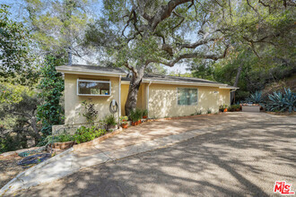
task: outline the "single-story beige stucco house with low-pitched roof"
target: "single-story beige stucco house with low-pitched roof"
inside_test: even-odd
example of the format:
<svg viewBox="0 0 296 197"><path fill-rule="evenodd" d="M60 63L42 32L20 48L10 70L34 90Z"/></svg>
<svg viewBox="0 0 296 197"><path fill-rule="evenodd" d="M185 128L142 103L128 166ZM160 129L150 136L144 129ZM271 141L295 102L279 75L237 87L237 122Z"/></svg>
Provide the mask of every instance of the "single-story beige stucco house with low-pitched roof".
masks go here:
<svg viewBox="0 0 296 197"><path fill-rule="evenodd" d="M115 116L125 116L130 78L120 68L94 65L61 65L65 76L65 124L83 124L83 100L91 99L99 118L110 114L109 106L118 104ZM197 78L145 74L137 107L148 110L148 117L189 116L208 109L218 112L220 105L231 104L231 91L238 88Z"/></svg>

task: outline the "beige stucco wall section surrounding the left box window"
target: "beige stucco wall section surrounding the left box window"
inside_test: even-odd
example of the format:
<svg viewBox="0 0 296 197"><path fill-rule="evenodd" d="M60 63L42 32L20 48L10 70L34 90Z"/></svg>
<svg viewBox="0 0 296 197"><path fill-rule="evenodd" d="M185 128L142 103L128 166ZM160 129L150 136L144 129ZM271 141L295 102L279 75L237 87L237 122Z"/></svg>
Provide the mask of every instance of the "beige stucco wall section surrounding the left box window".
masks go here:
<svg viewBox="0 0 296 197"><path fill-rule="evenodd" d="M111 81L111 95L105 96L78 96L77 95L77 79L91 79L91 80L110 80ZM99 111L99 119L110 115L109 104L112 99L115 99L119 105L119 78L118 77L104 77L104 76L88 76L65 73L65 124L83 124L86 122L85 118L79 113L83 112L83 100L90 100L95 104L95 109ZM119 109L119 107L118 107ZM119 113L119 112L118 112ZM118 113L115 114L118 117ZM99 120L98 119L98 120Z"/></svg>

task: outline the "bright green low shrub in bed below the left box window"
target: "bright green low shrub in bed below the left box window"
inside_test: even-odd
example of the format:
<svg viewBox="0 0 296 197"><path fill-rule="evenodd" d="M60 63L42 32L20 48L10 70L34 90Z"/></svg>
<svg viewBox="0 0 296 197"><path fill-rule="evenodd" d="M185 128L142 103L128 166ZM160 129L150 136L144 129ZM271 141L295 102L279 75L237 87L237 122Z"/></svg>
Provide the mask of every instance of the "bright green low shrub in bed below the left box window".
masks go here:
<svg viewBox="0 0 296 197"><path fill-rule="evenodd" d="M76 143L83 143L86 141L92 141L95 138L100 137L101 135L106 134L107 131L105 129L98 129L96 126L85 127L81 126L77 129L74 134L74 141Z"/></svg>

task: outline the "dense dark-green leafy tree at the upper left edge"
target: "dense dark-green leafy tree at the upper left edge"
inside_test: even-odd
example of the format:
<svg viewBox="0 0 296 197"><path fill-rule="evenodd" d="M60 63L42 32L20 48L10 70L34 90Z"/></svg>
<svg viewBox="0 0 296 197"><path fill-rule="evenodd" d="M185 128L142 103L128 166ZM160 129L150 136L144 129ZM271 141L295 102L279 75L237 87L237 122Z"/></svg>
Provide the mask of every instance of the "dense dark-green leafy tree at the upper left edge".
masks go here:
<svg viewBox="0 0 296 197"><path fill-rule="evenodd" d="M18 75L18 81L24 82L32 70L30 31L22 22L10 19L9 8L0 4L0 81Z"/></svg>

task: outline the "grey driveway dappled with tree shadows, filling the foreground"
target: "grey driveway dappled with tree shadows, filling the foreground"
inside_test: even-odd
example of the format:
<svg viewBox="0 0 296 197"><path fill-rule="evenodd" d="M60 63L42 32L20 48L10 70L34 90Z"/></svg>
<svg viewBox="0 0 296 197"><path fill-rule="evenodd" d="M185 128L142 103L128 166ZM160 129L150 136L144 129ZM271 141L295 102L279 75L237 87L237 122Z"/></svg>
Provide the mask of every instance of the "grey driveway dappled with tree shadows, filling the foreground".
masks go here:
<svg viewBox="0 0 296 197"><path fill-rule="evenodd" d="M228 122L231 127L168 148L88 167L56 182L14 194L270 196L279 195L273 192L275 181L292 184L296 192L295 116L229 113L207 118L208 123L201 123L204 126ZM167 122L171 125L182 121ZM192 124L189 127L195 128Z"/></svg>

